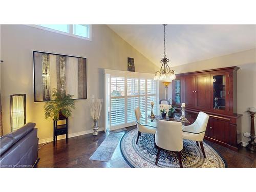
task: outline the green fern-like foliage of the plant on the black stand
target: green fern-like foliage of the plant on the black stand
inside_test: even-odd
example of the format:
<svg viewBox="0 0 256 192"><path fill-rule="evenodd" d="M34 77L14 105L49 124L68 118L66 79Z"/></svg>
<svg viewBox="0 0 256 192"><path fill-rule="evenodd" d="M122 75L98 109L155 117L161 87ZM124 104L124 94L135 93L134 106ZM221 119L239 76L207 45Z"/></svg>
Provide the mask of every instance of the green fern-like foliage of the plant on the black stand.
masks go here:
<svg viewBox="0 0 256 192"><path fill-rule="evenodd" d="M67 94L63 91L53 89L52 90L53 100L47 101L45 109L45 118L50 117L53 120L59 120L71 117L71 109L75 109L75 100L72 99L73 95Z"/></svg>

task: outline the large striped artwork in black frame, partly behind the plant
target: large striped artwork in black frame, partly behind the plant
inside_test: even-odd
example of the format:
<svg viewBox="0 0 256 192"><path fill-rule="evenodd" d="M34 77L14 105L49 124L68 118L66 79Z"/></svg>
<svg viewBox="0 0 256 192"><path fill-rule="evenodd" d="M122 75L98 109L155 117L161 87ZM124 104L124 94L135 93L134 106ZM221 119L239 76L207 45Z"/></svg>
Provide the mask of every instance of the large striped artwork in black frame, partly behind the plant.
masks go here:
<svg viewBox="0 0 256 192"><path fill-rule="evenodd" d="M57 89L87 99L87 60L82 57L33 51L34 101L51 100Z"/></svg>

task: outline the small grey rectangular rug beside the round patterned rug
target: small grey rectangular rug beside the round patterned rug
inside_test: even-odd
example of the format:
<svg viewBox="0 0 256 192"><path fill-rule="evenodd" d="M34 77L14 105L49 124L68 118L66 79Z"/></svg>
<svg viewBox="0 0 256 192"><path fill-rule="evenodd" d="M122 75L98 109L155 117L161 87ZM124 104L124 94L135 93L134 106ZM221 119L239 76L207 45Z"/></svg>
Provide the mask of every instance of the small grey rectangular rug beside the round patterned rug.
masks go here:
<svg viewBox="0 0 256 192"><path fill-rule="evenodd" d="M110 162L122 136L122 134L110 133L90 157L90 160Z"/></svg>

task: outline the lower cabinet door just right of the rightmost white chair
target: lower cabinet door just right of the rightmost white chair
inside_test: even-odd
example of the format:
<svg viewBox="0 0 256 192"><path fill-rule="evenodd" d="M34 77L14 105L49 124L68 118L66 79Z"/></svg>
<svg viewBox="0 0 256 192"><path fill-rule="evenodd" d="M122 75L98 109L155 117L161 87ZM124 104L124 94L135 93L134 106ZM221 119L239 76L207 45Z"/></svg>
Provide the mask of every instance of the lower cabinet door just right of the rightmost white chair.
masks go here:
<svg viewBox="0 0 256 192"><path fill-rule="evenodd" d="M210 137L228 143L229 122L210 118Z"/></svg>

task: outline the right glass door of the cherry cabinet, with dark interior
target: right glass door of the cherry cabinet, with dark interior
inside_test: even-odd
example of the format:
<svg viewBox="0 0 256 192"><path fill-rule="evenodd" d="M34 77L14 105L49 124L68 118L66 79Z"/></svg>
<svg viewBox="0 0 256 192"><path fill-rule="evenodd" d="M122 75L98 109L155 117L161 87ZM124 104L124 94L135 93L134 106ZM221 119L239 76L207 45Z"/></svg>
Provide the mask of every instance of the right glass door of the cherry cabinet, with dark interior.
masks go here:
<svg viewBox="0 0 256 192"><path fill-rule="evenodd" d="M213 75L213 106L214 109L226 110L226 75Z"/></svg>

